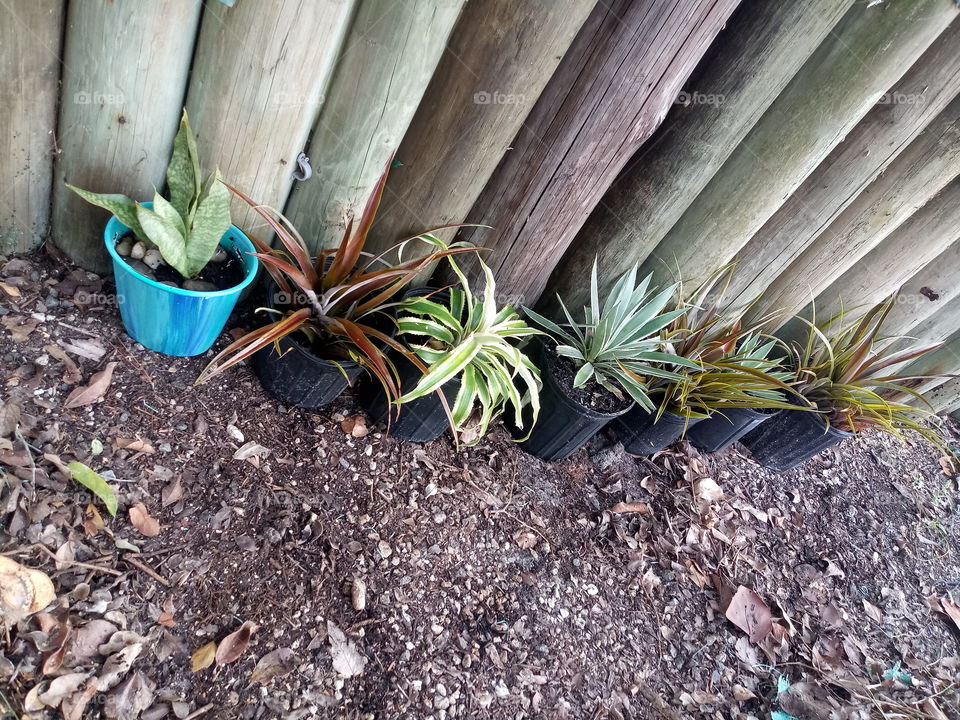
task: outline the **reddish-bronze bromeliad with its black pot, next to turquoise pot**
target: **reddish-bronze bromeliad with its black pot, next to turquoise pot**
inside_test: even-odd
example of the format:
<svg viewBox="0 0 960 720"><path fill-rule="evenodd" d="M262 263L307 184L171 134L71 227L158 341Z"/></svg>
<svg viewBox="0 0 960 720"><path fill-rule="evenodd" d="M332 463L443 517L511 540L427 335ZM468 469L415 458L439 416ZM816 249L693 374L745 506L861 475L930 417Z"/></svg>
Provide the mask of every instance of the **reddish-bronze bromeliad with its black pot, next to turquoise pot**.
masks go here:
<svg viewBox="0 0 960 720"><path fill-rule="evenodd" d="M392 337L396 298L437 260L475 248L448 247L428 230L379 255L365 252L389 168L387 163L356 226L351 218L340 244L316 257L281 213L230 188L279 240L280 247L274 249L252 238L254 255L272 280L261 310L276 319L228 345L204 368L197 383L252 357L264 388L297 407L316 408L333 401L363 370L373 375L391 402L399 397L390 351L406 350ZM404 260L404 249L417 240L426 243L429 252Z"/></svg>

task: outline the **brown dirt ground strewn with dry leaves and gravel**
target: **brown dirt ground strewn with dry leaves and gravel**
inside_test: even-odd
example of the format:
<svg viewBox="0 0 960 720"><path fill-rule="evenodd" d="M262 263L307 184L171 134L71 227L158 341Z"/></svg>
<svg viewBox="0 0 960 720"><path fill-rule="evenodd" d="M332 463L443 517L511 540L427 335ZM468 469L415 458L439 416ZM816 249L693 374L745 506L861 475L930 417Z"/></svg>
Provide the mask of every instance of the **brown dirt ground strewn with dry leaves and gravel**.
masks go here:
<svg viewBox="0 0 960 720"><path fill-rule="evenodd" d="M400 444L350 394L194 387L208 358L139 346L49 257L0 282L0 551L57 595L9 623L0 717L960 718L958 487L930 446L778 475L740 446Z"/></svg>

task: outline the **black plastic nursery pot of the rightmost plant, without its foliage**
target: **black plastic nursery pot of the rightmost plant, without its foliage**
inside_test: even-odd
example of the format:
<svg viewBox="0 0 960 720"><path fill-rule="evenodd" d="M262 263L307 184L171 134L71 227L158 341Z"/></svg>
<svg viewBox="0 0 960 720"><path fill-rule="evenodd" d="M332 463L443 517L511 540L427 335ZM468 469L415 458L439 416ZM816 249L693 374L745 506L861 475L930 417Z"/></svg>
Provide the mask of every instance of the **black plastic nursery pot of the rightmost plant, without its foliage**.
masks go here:
<svg viewBox="0 0 960 720"><path fill-rule="evenodd" d="M782 410L740 438L740 444L764 467L783 472L852 436L828 426L819 413Z"/></svg>

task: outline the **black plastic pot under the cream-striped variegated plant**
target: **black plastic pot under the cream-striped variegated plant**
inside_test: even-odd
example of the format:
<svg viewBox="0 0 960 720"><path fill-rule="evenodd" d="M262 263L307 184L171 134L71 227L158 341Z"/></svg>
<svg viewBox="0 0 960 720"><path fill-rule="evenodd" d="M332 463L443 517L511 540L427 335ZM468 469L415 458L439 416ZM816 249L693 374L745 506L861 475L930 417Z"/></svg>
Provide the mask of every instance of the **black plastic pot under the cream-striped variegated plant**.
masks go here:
<svg viewBox="0 0 960 720"><path fill-rule="evenodd" d="M423 377L423 373L412 362L399 353L391 353L392 360L400 375L400 391L413 390ZM444 383L443 396L451 409L460 390L460 381L456 378ZM383 388L373 378L367 380L360 392L360 401L367 415L374 422L387 422L387 396ZM390 417L389 434L407 442L430 442L440 437L450 427L443 403L436 392L424 395L416 400L395 406Z"/></svg>

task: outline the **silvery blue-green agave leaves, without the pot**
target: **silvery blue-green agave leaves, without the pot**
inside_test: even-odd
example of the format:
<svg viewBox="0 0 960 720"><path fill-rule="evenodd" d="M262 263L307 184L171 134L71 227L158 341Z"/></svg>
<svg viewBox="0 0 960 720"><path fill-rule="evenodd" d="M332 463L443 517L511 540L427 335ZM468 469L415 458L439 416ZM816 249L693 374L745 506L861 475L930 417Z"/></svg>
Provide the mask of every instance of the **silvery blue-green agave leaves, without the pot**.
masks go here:
<svg viewBox="0 0 960 720"><path fill-rule="evenodd" d="M557 354L573 361L577 368L574 387L594 380L615 397L629 396L641 407L653 411L655 405L648 395L649 379L679 381L682 376L671 368L697 369L699 365L662 349L660 331L687 312L687 308L663 311L677 285L653 291L652 275L639 285L636 278L637 266L634 265L614 283L601 306L597 261L594 260L590 305L584 308L582 323L573 319L559 296L557 300L567 320L562 325L529 308L524 308L524 312L557 340Z"/></svg>

